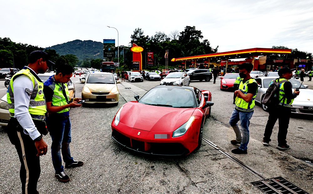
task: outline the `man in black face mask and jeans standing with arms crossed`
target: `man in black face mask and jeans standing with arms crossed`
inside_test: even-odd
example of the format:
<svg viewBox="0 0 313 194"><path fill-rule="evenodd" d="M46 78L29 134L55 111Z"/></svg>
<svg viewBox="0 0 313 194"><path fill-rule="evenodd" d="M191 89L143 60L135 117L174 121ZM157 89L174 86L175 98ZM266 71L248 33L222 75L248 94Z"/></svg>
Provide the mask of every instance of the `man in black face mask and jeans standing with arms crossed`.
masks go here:
<svg viewBox="0 0 313 194"><path fill-rule="evenodd" d="M258 92L258 84L254 78L250 76L252 69L252 63L243 63L239 66L239 76L241 80L239 90L235 91L236 107L229 119L229 124L233 127L236 134L236 139L231 140L230 143L240 144L239 148L232 150L234 154L247 154L249 124L254 112L254 98ZM240 128L237 124L239 120Z"/></svg>

